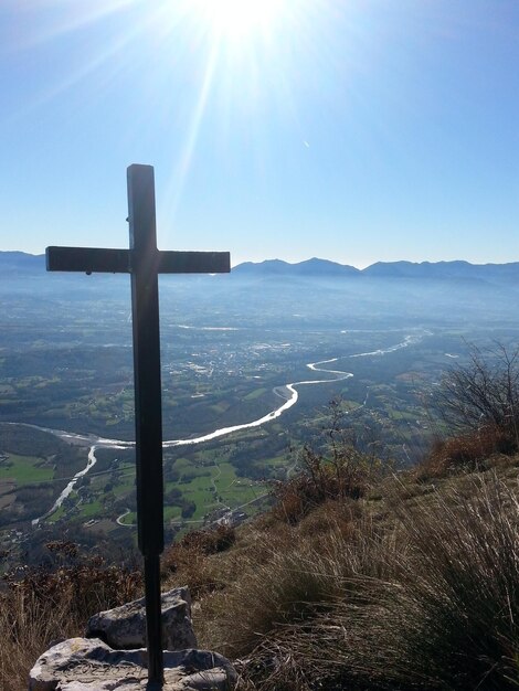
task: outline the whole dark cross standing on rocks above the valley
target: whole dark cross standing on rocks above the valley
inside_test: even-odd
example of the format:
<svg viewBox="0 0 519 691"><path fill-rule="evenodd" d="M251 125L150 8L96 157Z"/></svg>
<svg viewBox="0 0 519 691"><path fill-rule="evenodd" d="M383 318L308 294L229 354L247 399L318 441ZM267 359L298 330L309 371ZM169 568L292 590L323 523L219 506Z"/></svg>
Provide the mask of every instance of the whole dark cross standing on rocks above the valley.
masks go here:
<svg viewBox="0 0 519 691"><path fill-rule="evenodd" d="M229 252L159 252L153 168L130 166L127 180L129 249L47 247L46 269L131 275L137 527L139 550L145 560L148 689L161 689L163 479L158 274L227 273L231 257Z"/></svg>

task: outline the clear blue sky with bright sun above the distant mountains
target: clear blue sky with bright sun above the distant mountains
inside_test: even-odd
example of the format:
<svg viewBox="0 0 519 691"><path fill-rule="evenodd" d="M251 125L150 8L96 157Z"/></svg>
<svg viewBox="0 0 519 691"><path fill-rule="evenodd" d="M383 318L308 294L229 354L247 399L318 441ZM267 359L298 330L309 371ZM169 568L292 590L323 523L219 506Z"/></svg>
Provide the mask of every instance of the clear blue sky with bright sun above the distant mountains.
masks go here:
<svg viewBox="0 0 519 691"><path fill-rule="evenodd" d="M1 0L0 249L519 261L519 0Z"/></svg>

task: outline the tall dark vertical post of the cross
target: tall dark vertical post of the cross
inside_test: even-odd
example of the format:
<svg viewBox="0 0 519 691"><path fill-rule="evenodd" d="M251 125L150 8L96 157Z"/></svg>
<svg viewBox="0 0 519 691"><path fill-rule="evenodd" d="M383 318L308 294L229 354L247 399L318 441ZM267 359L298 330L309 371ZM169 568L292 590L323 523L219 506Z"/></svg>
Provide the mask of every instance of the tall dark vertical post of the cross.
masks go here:
<svg viewBox="0 0 519 691"><path fill-rule="evenodd" d="M151 166L130 166L127 181L139 507L137 527L139 550L145 560L148 674L151 683L161 683L162 403L153 169Z"/></svg>

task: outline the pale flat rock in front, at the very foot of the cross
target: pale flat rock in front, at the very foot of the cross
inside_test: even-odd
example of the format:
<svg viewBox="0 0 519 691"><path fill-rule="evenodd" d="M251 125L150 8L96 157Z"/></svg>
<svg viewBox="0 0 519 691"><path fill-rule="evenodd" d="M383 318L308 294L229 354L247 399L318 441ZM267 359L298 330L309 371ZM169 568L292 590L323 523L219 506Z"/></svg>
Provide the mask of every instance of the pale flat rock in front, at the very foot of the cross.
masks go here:
<svg viewBox="0 0 519 691"><path fill-rule="evenodd" d="M71 638L44 652L30 672L29 691L145 691L146 650L112 650L95 638ZM163 691L227 691L236 672L208 650L165 652Z"/></svg>

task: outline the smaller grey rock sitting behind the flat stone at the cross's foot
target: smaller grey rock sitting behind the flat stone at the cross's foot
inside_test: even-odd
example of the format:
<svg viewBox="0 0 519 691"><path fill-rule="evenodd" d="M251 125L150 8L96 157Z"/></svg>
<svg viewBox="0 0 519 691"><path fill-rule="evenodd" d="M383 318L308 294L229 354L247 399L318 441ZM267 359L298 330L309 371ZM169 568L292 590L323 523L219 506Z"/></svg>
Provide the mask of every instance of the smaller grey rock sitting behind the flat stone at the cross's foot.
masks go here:
<svg viewBox="0 0 519 691"><path fill-rule="evenodd" d="M94 615L86 629L87 638L100 638L114 649L130 650L146 646L145 600ZM162 646L166 650L197 647L191 623L191 596L187 587L162 594Z"/></svg>

